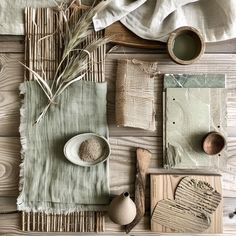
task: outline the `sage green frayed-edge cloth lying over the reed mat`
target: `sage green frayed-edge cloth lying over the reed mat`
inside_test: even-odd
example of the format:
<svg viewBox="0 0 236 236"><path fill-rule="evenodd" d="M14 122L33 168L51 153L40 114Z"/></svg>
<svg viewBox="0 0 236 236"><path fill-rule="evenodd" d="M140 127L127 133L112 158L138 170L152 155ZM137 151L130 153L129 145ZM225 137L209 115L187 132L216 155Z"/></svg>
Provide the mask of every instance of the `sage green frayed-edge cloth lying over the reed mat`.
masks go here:
<svg viewBox="0 0 236 236"><path fill-rule="evenodd" d="M45 118L33 125L47 103L46 96L35 81L21 85L25 98L19 210L67 213L101 210L108 204L108 162L79 167L63 154L64 144L74 135L94 132L107 136L106 91L106 83L76 82L60 95Z"/></svg>

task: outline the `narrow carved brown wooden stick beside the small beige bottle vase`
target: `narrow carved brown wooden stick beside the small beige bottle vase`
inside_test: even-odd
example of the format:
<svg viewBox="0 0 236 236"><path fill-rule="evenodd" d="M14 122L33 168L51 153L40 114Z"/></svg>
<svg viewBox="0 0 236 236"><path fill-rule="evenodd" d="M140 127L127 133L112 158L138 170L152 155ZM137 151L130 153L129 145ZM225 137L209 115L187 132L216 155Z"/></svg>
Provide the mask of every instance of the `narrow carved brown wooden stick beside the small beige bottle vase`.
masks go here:
<svg viewBox="0 0 236 236"><path fill-rule="evenodd" d="M137 207L137 215L135 219L126 225L126 233L129 233L135 225L139 223L145 214L145 189L146 189L146 173L151 159L151 152L146 149L137 149L137 174L135 180L135 205Z"/></svg>

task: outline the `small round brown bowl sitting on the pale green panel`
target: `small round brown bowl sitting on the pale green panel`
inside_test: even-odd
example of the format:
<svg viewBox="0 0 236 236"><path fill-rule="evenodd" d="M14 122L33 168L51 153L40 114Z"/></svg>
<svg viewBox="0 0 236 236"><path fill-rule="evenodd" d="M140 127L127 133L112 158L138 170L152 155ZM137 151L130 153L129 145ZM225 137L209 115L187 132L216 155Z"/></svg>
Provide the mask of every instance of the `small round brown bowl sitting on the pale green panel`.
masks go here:
<svg viewBox="0 0 236 236"><path fill-rule="evenodd" d="M226 145L225 138L218 132L210 132L203 139L202 148L208 155L220 153Z"/></svg>

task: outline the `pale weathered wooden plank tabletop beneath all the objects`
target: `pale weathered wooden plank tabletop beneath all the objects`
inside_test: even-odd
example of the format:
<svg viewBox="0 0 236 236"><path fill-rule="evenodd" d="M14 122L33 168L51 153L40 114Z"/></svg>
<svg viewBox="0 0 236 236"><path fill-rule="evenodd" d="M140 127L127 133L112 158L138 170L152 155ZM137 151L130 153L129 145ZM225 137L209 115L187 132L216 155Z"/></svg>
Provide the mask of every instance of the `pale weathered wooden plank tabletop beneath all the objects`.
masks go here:
<svg viewBox="0 0 236 236"><path fill-rule="evenodd" d="M18 61L24 58L24 41L21 37L0 37L0 235L46 235L40 232L22 232L20 213L16 209L20 163L18 87L23 81L23 68ZM224 234L236 235L236 216L228 214L236 208L236 40L207 45L202 59L190 66L176 65L168 58L165 48L139 50L118 47L107 56L106 78L108 81L108 123L112 155L110 158L111 193L134 190L135 148L144 147L152 151L151 168L162 165L162 107L157 94L157 131L146 132L138 129L115 126L114 95L116 61L120 58L154 59L159 62L160 73L225 73L228 88L228 171L223 173ZM156 81L158 82L158 81ZM147 208L149 208L149 188ZM120 235L122 228L106 219L104 235ZM50 233L56 235L59 233ZM78 234L78 233L76 233ZM125 234L125 233L122 233ZM131 235L154 235L150 232L148 214L130 233ZM60 233L73 235L73 233ZM86 233L86 235L90 235ZM167 235L157 234L155 235ZM173 235L173 234L172 234ZM205 235L205 234L202 234Z"/></svg>

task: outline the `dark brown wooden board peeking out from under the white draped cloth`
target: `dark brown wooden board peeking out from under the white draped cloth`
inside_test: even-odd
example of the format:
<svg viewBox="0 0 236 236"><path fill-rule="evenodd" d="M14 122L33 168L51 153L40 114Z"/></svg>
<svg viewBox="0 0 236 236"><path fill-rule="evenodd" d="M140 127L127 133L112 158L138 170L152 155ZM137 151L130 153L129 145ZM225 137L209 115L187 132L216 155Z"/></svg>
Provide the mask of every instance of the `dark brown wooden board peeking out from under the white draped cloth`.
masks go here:
<svg viewBox="0 0 236 236"><path fill-rule="evenodd" d="M120 22L115 22L105 29L105 36L111 37L111 41L130 47L166 49L166 44L158 41L145 40L128 30Z"/></svg>

